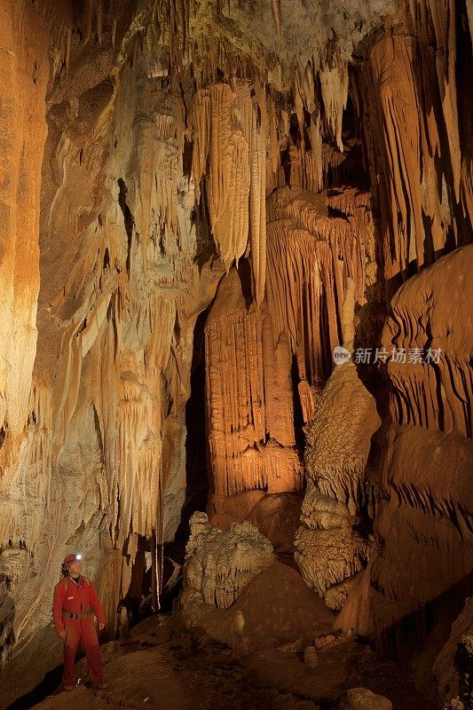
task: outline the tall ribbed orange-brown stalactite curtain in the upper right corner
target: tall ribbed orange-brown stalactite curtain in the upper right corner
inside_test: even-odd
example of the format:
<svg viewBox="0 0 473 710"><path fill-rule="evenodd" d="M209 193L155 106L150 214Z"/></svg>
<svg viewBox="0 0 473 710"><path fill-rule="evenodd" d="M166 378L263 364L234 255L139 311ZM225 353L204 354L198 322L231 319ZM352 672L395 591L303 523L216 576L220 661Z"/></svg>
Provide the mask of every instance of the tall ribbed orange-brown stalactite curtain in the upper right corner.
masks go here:
<svg viewBox="0 0 473 710"><path fill-rule="evenodd" d="M471 162L462 158L466 146L458 128L458 12L450 0L412 5L406 25L374 43L363 67L365 132L382 210L386 278L406 272L409 264L431 264L448 241L465 241L461 221L452 220L458 202L471 222Z"/></svg>

